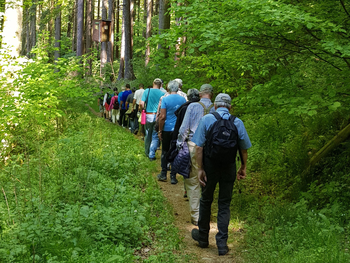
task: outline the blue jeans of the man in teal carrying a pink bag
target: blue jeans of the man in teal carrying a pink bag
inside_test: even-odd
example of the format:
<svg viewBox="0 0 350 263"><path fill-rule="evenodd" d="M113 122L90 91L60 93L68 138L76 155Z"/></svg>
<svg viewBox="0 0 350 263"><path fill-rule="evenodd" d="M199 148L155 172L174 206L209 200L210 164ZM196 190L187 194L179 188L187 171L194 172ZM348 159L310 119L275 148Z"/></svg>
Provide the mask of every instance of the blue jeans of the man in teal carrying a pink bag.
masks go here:
<svg viewBox="0 0 350 263"><path fill-rule="evenodd" d="M159 142L158 132L155 131L155 117L156 117L155 114L146 115L145 154L149 158L155 157L155 152L157 150L157 146Z"/></svg>

